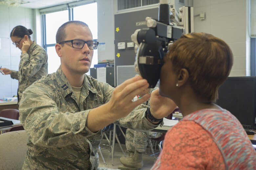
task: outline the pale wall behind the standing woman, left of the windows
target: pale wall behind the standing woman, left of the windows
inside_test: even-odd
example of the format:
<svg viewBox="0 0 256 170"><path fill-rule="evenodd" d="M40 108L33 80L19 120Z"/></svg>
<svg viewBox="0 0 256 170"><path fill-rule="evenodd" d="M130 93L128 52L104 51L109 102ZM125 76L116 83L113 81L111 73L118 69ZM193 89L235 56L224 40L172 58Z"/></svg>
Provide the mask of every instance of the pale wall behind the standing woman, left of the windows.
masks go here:
<svg viewBox="0 0 256 170"><path fill-rule="evenodd" d="M13 27L23 25L35 32L33 9L0 5L0 66L18 70L21 51L12 45L10 33ZM35 34L31 35L32 40ZM0 74L0 98L17 95L18 80Z"/></svg>

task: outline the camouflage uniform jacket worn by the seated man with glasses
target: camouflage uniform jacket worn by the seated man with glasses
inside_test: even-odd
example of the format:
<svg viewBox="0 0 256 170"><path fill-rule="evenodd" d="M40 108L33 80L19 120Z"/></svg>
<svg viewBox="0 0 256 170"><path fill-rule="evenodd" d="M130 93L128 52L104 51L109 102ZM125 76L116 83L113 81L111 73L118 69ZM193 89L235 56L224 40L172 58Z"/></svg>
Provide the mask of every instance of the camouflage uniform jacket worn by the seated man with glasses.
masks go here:
<svg viewBox="0 0 256 170"><path fill-rule="evenodd" d="M113 90L85 75L78 103L60 67L28 87L19 107L29 136L23 169L97 169L102 130L91 132L86 119L91 109L110 100ZM114 123L144 131L157 127L145 118L146 107L139 105Z"/></svg>

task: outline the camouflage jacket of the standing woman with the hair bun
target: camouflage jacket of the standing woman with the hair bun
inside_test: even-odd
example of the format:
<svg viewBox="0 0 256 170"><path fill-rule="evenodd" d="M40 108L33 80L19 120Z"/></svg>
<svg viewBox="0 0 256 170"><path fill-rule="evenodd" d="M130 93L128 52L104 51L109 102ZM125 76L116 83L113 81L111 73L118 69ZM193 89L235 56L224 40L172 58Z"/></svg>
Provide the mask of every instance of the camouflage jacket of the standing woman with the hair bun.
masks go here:
<svg viewBox="0 0 256 170"><path fill-rule="evenodd" d="M18 104L22 92L33 82L48 73L47 53L43 47L35 41L29 47L27 53L20 56L19 71L11 70L11 78L18 80Z"/></svg>

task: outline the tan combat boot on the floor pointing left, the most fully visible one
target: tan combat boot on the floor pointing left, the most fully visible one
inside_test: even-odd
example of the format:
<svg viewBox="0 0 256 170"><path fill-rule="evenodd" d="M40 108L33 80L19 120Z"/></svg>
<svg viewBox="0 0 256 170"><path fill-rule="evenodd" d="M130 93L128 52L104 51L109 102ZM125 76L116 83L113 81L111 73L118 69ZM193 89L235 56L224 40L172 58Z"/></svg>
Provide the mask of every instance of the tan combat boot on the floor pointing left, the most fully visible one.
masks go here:
<svg viewBox="0 0 256 170"><path fill-rule="evenodd" d="M135 151L133 157L121 157L120 162L127 167L141 168L143 166L142 153Z"/></svg>

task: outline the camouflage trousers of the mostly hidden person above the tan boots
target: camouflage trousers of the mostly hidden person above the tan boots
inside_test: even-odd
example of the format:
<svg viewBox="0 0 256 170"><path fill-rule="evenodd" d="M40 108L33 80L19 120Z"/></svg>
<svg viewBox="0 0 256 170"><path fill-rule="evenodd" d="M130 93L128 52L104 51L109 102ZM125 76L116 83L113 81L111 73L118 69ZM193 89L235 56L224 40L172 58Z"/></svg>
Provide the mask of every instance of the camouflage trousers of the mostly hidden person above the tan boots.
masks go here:
<svg viewBox="0 0 256 170"><path fill-rule="evenodd" d="M148 139L159 138L162 133L159 132L140 132L132 129L127 129L125 134L125 145L128 152L145 152L148 144Z"/></svg>

